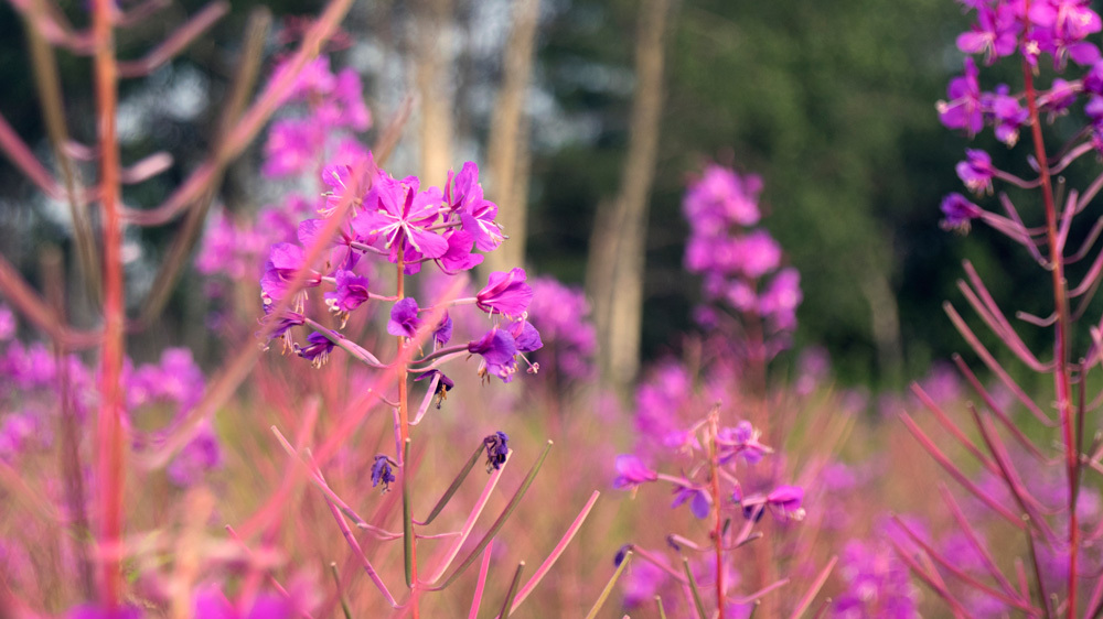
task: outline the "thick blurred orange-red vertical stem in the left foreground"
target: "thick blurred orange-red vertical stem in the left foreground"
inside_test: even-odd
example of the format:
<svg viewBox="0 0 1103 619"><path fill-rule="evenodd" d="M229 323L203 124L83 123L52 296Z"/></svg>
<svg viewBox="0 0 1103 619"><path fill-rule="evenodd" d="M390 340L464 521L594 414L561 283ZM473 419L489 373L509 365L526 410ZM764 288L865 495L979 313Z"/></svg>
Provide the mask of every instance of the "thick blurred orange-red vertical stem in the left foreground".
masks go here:
<svg viewBox="0 0 1103 619"><path fill-rule="evenodd" d="M118 72L111 30L111 0L96 0L93 11L95 40L96 112L99 129L99 196L104 226L104 343L100 355L99 417L96 428L99 490L100 601L115 608L122 588L121 532L124 491L122 390L119 380L124 355L121 225L119 218L119 150L115 119Z"/></svg>

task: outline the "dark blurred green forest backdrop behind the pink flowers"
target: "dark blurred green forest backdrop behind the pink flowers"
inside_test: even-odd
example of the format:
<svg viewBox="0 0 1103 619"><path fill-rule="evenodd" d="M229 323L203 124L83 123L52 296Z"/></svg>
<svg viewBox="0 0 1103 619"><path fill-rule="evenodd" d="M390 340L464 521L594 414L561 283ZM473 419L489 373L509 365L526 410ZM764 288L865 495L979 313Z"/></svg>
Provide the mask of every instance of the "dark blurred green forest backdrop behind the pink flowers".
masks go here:
<svg viewBox="0 0 1103 619"><path fill-rule="evenodd" d="M128 187L129 204L161 202L208 146L246 17L257 4L233 2L229 15L182 56L148 80L122 84L124 162L149 154L154 144L174 160L167 174ZM514 153L513 199L527 205L525 260L539 273L581 284L596 214L614 198L633 143L636 24L646 3L362 0L345 20L346 36L332 56L364 76L376 128L418 90L419 76L436 80L439 97L421 97L428 105L416 109L392 159L396 176L425 161L428 146L419 143L418 131L448 140L448 161L483 164L502 156L494 151L504 148L493 145L493 127L501 118L500 89L513 70L503 58L510 57L505 51L521 4L536 10L534 61L521 69L527 87L518 99L520 138L515 150L505 152ZM83 2L62 6L71 21L85 23ZM281 0L265 6L277 24L292 28L296 18L320 8ZM202 7L195 0L174 2L144 30L128 32L119 42L120 55L132 57L129 50L144 50ZM986 235L962 238L938 225L939 200L960 189L953 165L968 145L943 129L934 111L947 79L961 70L952 42L963 28L961 7L950 0L671 4L643 248L644 359L677 351L676 334L690 325L700 286L682 268L687 228L681 198L686 181L714 160L764 180L763 224L802 274L797 350L824 346L842 381L887 388L962 348L941 310L943 300L959 297L954 281L961 260L967 257L989 273L1019 267L1006 242ZM436 43L436 51L425 51L427 41ZM0 83L6 85L0 113L49 160L26 45L18 14L0 3ZM268 53L279 50L270 36ZM437 54L435 75L416 70L422 53ZM62 54L61 63L67 111L76 121L73 138L90 142L88 61ZM441 118L445 130L424 130ZM985 139L978 141L990 146ZM254 144L227 174L219 202L228 209L257 209L275 195L258 176L258 162ZM488 197L502 200L493 188ZM524 228L507 224L506 232L516 229ZM171 232L128 231L128 294L135 306L152 284L152 264ZM65 209L0 160L4 254L36 281L38 252L45 243L72 253ZM1014 279L989 280L994 295L1010 294L1000 286ZM200 358L216 352L217 343L206 341L203 295L189 294L200 285L197 275L185 275L159 328L142 336L159 338L149 343L150 350L185 344ZM79 323L78 308L75 314ZM85 312L85 319L89 315ZM140 358L142 343L133 344Z"/></svg>

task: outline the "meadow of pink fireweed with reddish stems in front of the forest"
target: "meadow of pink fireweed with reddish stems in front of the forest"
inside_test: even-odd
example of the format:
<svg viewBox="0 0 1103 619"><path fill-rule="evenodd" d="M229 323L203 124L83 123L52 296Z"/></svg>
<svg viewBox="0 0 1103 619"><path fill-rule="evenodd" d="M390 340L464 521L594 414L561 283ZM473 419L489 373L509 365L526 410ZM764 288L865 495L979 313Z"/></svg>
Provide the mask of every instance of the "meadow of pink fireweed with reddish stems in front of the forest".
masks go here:
<svg viewBox="0 0 1103 619"><path fill-rule="evenodd" d="M74 215L75 246L103 267L74 275L98 290L84 330L56 256L35 282L0 259L0 617L1100 616L1103 23L1083 0L962 3L938 118L963 146L990 128L1017 160L965 149L973 197L944 199L944 227L1019 246L1050 313L1011 313L1022 300L985 284L1000 274L966 262L964 304L945 304L963 355L907 393L839 388L823 349L792 350L815 308L763 180L710 163L682 203L696 327L625 398L580 289L482 269L510 240L475 162L440 186L388 172L405 113L373 117L360 76L319 54L349 1L148 209L120 197L161 169L119 161L115 4L96 0L83 34L13 2L43 50L93 58L95 181L6 123L0 148L74 214L98 209L83 231ZM997 65L1016 80L988 79ZM287 191L207 214L254 140ZM1085 165L1082 187L1062 176ZM144 318L124 232L178 219L224 344L211 367L186 343L127 354Z"/></svg>

